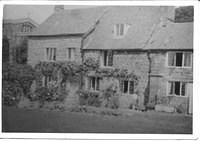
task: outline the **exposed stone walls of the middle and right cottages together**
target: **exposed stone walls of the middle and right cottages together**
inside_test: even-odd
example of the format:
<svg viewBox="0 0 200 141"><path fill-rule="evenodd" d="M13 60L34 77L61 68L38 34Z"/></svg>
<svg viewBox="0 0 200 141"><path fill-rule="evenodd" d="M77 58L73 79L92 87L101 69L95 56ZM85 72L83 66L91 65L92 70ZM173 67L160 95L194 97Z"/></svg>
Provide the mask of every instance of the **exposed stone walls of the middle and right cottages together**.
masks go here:
<svg viewBox="0 0 200 141"><path fill-rule="evenodd" d="M193 68L171 68L167 66L167 52L153 52L150 54L151 58L151 74L150 74L150 95L149 103L155 104L155 97L168 97L167 83L168 81L185 81L192 82L193 80ZM100 51L85 51L84 58L92 57L96 60L100 58ZM135 87L135 93L144 96L146 90L148 90L148 71L149 60L147 52L133 52L133 51L114 51L113 67L127 69L129 72L139 76L139 84ZM101 79L101 89L105 89L110 84L108 78ZM121 95L121 99L127 97ZM125 98L127 99L127 98ZM170 105L178 107L182 105L182 108L187 111L188 109L188 97L174 96L170 98ZM122 100L124 101L124 100ZM130 102L125 100L128 106ZM140 101L141 102L141 101Z"/></svg>

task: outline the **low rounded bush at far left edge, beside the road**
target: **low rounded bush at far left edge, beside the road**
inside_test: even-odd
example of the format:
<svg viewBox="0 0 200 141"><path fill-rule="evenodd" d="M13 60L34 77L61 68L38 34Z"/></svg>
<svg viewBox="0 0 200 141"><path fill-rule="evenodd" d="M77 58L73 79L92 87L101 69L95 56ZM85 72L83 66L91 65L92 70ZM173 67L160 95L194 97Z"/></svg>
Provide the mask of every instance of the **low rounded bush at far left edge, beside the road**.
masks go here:
<svg viewBox="0 0 200 141"><path fill-rule="evenodd" d="M16 105L23 95L20 85L15 81L3 81L2 86L3 104L7 106Z"/></svg>

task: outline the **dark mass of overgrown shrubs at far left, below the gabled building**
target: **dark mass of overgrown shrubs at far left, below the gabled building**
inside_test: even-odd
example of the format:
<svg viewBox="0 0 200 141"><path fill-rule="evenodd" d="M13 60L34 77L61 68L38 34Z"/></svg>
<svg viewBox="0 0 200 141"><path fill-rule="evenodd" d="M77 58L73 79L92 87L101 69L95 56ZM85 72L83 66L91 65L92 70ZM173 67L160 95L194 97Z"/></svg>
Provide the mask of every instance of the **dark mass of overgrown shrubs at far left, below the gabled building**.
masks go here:
<svg viewBox="0 0 200 141"><path fill-rule="evenodd" d="M21 96L27 96L35 79L35 71L29 65L3 64L2 74L3 103L6 105L14 105Z"/></svg>

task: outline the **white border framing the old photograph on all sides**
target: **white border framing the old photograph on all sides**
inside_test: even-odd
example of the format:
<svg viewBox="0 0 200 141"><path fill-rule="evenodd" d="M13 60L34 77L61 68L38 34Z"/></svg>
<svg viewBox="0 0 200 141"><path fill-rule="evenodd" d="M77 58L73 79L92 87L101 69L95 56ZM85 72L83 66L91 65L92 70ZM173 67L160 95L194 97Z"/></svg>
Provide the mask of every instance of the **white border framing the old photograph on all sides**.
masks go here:
<svg viewBox="0 0 200 141"><path fill-rule="evenodd" d="M5 133L0 122L0 138L15 139L107 139L107 140L198 140L200 139L200 3L198 1L1 1L0 24L2 25L4 5L121 5L121 6L194 6L194 71L193 71L193 133L192 134L91 134L91 133ZM2 39L2 26L0 27ZM2 42L0 44L2 52ZM2 53L1 53L2 55ZM2 56L0 61L2 62ZM2 70L2 63L1 63ZM0 74L2 86L2 73ZM2 88L2 87L1 87ZM198 93L199 92L199 93ZM2 89L0 89L2 94ZM2 121L2 96L0 113Z"/></svg>

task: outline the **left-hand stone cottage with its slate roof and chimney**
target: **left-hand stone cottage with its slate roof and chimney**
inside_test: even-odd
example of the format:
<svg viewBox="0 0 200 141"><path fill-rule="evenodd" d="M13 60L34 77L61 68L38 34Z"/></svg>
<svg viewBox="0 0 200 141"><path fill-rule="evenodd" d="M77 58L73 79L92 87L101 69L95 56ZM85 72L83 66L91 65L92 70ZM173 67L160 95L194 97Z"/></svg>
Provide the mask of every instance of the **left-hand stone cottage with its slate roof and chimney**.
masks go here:
<svg viewBox="0 0 200 141"><path fill-rule="evenodd" d="M34 32L29 34L28 64L33 67L39 62L76 62L82 63L81 48L83 39L96 23L102 9L64 10L63 5L54 7L54 13ZM52 80L44 76L42 85ZM71 90L77 84L67 84ZM73 88L72 88L73 87Z"/></svg>

